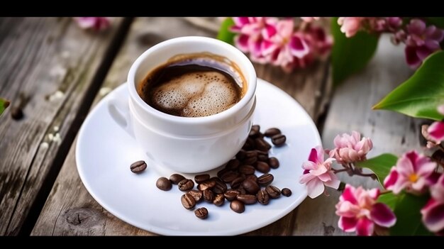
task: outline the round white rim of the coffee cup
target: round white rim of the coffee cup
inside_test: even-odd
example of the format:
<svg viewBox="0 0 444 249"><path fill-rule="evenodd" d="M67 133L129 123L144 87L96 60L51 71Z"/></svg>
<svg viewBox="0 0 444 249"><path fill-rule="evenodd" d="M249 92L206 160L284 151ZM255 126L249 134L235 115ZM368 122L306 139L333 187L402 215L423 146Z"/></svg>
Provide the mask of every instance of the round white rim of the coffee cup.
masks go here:
<svg viewBox="0 0 444 249"><path fill-rule="evenodd" d="M142 64L144 60L155 50L158 48L161 48L163 46L172 45L174 43L182 43L184 41L190 41L194 40L200 43L213 43L218 46L221 46L225 50L230 50L233 54L238 54L239 60L236 61L237 64L242 64L246 68L246 72L242 72L244 74L245 79L248 81L248 89L247 92L245 92L245 95L238 101L238 103L234 104L230 108L226 109L225 111L221 111L218 114L213 114L210 116L203 116L203 117L183 117L183 116L174 116L171 114L166 114L162 111L159 111L152 106L148 105L143 101L143 99L139 96L135 89L135 74L138 70L138 67ZM205 52L205 51L202 51ZM159 64L161 64L160 62ZM222 40L218 40L215 38L208 38L204 36L182 36L179 38L172 38L169 40L162 41L160 43L157 43L156 45L153 45L151 48L148 48L145 52L143 52L142 55L140 55L134 62L133 65L131 65L131 68L128 72L128 91L130 93L130 97L135 103L138 104L140 108L142 108L144 111L154 115L157 118L161 119L167 119L168 121L177 122L177 123L211 123L214 121L223 120L225 118L228 118L230 116L233 116L237 111L243 108L243 106L247 105L253 96L255 96L256 86L257 86L257 76L255 68L252 65L252 62L248 57L238 48L235 48L233 45L228 44L226 42L223 42Z"/></svg>

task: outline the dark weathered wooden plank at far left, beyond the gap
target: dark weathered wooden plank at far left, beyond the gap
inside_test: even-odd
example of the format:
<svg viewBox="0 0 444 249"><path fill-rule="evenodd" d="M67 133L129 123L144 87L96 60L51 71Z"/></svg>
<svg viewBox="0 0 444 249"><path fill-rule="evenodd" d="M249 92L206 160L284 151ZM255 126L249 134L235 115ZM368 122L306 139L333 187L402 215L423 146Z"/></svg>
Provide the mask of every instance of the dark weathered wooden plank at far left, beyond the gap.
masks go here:
<svg viewBox="0 0 444 249"><path fill-rule="evenodd" d="M89 33L72 18L0 19L0 96L24 113L0 117L0 235L20 232L46 177L57 174L57 153L120 23Z"/></svg>

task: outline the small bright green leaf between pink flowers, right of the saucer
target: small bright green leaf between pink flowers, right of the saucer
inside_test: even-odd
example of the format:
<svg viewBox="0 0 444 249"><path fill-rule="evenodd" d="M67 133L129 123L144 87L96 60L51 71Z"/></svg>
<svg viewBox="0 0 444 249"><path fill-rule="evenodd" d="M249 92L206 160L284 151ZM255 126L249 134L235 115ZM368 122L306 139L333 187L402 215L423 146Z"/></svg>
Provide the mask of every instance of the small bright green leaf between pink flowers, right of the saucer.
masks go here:
<svg viewBox="0 0 444 249"><path fill-rule="evenodd" d="M389 175L390 169L396 165L396 160L398 160L396 155L386 153L365 161L355 162L355 166L366 167L367 169L372 170L372 172L378 177L379 183L384 186L384 179Z"/></svg>

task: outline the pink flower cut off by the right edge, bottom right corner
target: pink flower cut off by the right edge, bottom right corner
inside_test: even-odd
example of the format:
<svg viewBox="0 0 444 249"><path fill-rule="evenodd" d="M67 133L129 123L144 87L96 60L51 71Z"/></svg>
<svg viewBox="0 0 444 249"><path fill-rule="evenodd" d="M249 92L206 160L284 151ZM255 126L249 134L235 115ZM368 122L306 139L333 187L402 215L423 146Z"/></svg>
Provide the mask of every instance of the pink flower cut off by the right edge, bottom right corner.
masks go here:
<svg viewBox="0 0 444 249"><path fill-rule="evenodd" d="M444 174L431 188L431 199L421 209L424 226L433 233L444 235Z"/></svg>

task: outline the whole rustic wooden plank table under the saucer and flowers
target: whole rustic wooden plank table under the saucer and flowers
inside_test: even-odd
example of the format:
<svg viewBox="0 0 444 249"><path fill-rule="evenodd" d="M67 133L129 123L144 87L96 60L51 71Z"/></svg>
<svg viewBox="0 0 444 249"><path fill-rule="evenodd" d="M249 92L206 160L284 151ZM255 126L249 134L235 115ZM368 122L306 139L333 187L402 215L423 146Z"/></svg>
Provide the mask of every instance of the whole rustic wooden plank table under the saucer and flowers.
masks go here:
<svg viewBox="0 0 444 249"><path fill-rule="evenodd" d="M109 30L94 33L72 18L0 18L0 96L24 112L19 121L11 108L0 116L0 235L153 234L116 218L89 195L76 169L76 135L89 110L126 81L132 62L150 46L183 35L215 37L215 23L201 26L202 20L114 18ZM370 65L334 91L328 61L292 74L255 69L304 106L326 148L336 134L352 130L372 138L370 156L421 146L418 121L370 109L412 73L402 48L388 37ZM377 186L368 178L341 179ZM338 196L307 198L248 235L344 235L334 214Z"/></svg>

